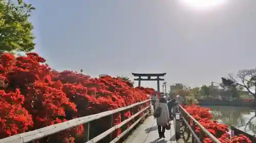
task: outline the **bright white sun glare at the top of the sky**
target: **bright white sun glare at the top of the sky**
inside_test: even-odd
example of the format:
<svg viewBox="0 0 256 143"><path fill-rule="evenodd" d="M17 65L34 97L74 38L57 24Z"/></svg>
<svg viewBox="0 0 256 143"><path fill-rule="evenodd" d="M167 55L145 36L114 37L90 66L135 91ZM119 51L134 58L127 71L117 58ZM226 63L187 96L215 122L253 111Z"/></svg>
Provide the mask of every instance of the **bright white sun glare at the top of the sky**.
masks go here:
<svg viewBox="0 0 256 143"><path fill-rule="evenodd" d="M207 10L223 5L226 0L180 0L180 2L191 8Z"/></svg>

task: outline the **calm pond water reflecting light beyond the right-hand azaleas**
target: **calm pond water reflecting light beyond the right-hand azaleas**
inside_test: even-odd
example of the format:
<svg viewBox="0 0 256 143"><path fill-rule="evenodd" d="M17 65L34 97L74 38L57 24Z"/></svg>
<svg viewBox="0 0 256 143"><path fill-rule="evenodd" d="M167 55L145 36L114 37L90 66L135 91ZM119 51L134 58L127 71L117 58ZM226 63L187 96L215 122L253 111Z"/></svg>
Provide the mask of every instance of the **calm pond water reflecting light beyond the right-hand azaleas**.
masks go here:
<svg viewBox="0 0 256 143"><path fill-rule="evenodd" d="M256 110L249 107L207 106L214 120L228 126L236 126L251 135L256 135Z"/></svg>

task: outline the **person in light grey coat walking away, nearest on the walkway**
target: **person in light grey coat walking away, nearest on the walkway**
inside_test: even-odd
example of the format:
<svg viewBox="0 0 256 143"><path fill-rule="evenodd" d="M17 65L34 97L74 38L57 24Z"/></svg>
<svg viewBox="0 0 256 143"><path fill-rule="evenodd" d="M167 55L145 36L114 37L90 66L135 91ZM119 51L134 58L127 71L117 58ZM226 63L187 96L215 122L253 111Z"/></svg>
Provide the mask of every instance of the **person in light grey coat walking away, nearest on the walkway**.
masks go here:
<svg viewBox="0 0 256 143"><path fill-rule="evenodd" d="M158 134L159 138L165 138L164 132L165 127L167 124L169 124L170 117L169 117L169 110L166 105L166 99L160 98L159 103L156 105L156 110L158 107L161 107L161 114L159 117L157 117L157 127L158 127Z"/></svg>

